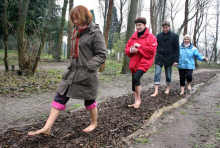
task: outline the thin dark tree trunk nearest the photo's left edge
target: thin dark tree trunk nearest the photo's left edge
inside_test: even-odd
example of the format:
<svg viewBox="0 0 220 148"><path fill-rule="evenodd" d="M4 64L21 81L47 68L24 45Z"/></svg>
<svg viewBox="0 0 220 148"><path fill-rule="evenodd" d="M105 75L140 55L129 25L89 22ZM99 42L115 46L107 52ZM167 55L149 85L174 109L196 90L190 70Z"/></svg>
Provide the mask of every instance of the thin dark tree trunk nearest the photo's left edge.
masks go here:
<svg viewBox="0 0 220 148"><path fill-rule="evenodd" d="M4 7L3 7L3 31L4 31L4 37L3 42L5 46L5 56L4 56L4 65L5 65L5 71L7 72L9 70L8 66L8 15L7 15L7 9L8 9L8 0L4 0Z"/></svg>

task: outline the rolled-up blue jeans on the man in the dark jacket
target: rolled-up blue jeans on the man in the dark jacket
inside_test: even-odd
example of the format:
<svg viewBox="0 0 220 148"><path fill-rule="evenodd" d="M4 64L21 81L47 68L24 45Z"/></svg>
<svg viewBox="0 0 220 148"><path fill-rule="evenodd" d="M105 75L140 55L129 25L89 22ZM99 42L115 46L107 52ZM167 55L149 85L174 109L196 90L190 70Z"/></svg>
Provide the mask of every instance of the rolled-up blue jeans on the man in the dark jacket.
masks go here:
<svg viewBox="0 0 220 148"><path fill-rule="evenodd" d="M163 66L155 64L155 72L154 72L154 84L160 85L160 77ZM172 66L164 66L166 83L167 85L171 82L171 74L172 74Z"/></svg>

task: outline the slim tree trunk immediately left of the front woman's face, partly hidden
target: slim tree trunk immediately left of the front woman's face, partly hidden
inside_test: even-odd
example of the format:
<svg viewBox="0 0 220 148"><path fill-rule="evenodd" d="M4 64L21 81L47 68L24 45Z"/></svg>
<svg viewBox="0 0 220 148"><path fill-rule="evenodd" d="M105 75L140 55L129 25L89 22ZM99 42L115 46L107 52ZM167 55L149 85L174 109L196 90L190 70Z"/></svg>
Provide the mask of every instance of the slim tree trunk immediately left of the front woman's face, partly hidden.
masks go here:
<svg viewBox="0 0 220 148"><path fill-rule="evenodd" d="M69 12L73 8L73 0L69 0ZM70 48L71 48L71 37L72 37L72 25L70 20L68 21L68 39L67 39L67 58L70 57Z"/></svg>

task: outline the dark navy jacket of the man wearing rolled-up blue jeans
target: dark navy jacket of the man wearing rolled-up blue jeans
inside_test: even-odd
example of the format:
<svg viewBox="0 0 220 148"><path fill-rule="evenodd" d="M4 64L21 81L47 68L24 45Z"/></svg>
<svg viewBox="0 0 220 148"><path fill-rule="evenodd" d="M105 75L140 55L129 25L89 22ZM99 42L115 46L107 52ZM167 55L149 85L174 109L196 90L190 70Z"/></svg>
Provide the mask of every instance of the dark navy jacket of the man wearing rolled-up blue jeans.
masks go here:
<svg viewBox="0 0 220 148"><path fill-rule="evenodd" d="M179 60L179 36L173 32L160 33L157 35L157 53L155 64L171 66Z"/></svg>

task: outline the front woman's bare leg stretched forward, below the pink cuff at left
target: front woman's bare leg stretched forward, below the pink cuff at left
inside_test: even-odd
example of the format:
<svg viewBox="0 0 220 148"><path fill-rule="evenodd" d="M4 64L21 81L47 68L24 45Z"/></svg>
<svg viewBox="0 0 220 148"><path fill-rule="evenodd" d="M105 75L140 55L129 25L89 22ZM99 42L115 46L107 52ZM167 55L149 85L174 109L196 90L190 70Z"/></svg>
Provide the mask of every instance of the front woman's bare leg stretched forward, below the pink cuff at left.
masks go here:
<svg viewBox="0 0 220 148"><path fill-rule="evenodd" d="M58 109L52 107L50 110L50 115L49 115L44 127L42 129L37 130L37 131L30 131L30 132L28 132L28 135L29 136L34 136L34 135L38 135L38 134L50 135L51 128L52 128L55 120L57 119L59 113L60 113L60 111Z"/></svg>

